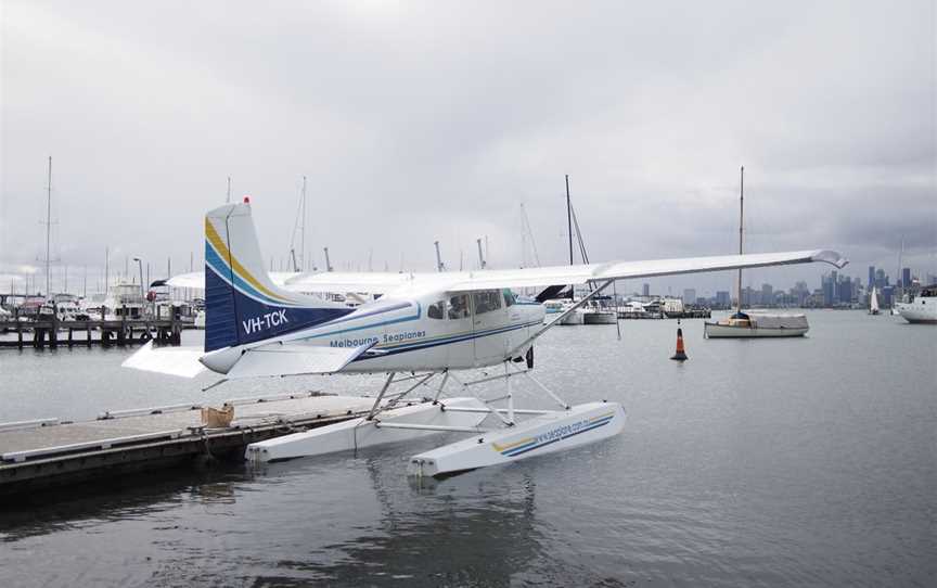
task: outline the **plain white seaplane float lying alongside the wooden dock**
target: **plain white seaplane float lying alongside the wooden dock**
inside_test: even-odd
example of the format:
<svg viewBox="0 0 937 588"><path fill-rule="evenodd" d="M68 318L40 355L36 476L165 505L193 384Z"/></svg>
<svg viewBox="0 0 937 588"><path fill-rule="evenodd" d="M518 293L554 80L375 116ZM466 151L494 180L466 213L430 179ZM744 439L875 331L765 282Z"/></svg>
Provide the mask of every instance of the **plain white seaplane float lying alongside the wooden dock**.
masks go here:
<svg viewBox="0 0 937 588"><path fill-rule="evenodd" d="M420 402L387 410L371 421L362 417L303 433L252 443L247 446L244 457L248 461L266 462L362 449L440 433L440 431L381 427L382 422L477 427L488 416L485 412L449 412L444 410L445 406L486 409L485 404L477 398L467 397L447 398L435 405L429 401Z"/></svg>

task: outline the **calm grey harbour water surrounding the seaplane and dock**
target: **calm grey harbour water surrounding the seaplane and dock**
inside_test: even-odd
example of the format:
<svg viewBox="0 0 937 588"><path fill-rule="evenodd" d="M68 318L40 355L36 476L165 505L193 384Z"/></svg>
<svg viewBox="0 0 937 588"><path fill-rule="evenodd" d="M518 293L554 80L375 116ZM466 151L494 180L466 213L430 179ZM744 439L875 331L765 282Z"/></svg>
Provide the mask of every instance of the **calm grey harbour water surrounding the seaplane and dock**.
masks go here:
<svg viewBox="0 0 937 588"><path fill-rule="evenodd" d="M0 510L3 586L935 586L937 328L817 311L804 340L671 321L557 328L537 372L619 400L617 438L422 487L444 437ZM118 368L125 351L0 350L0 421L294 389ZM525 388L526 389L526 388ZM529 402L543 405L534 394Z"/></svg>

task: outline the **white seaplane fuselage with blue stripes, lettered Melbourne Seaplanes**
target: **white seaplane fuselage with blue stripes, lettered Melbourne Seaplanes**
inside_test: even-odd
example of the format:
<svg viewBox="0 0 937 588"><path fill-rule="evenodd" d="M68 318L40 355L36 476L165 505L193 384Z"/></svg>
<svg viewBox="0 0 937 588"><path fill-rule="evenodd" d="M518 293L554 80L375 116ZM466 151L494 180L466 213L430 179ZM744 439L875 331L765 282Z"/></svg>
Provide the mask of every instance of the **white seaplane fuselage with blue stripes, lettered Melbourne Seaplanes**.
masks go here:
<svg viewBox="0 0 937 588"><path fill-rule="evenodd" d="M471 369L522 357L518 349L543 329L543 305L501 290L385 297L323 324L259 343L206 354L227 372L246 348L269 345L360 347L375 343L343 372ZM227 366L227 368L226 368Z"/></svg>

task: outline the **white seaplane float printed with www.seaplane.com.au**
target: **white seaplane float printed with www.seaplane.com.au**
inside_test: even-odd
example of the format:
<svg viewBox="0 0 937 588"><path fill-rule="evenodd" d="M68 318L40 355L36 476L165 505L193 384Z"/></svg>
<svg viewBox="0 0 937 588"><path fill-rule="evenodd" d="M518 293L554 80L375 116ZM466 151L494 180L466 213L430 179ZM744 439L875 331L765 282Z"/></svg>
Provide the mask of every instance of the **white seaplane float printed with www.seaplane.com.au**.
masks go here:
<svg viewBox="0 0 937 588"><path fill-rule="evenodd" d="M502 465L603 440L624 426L625 410L618 402L577 405L413 456L407 472L439 477Z"/></svg>

